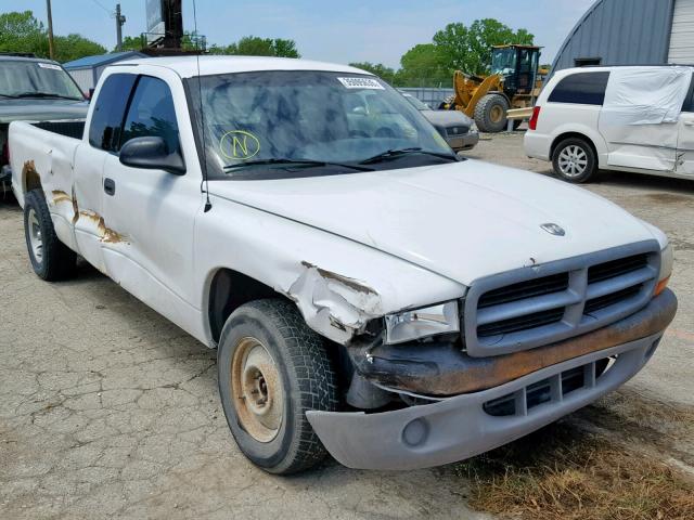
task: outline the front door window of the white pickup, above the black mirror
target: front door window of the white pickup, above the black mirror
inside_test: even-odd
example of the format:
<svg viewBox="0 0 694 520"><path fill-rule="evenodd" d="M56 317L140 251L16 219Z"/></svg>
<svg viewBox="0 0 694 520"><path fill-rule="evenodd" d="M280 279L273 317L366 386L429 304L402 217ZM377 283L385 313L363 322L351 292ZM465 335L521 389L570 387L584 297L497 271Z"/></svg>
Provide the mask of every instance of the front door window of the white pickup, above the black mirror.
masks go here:
<svg viewBox="0 0 694 520"><path fill-rule="evenodd" d="M141 76L123 126L120 144L133 138L153 135L163 138L169 152L178 150L178 125L171 91L165 81Z"/></svg>

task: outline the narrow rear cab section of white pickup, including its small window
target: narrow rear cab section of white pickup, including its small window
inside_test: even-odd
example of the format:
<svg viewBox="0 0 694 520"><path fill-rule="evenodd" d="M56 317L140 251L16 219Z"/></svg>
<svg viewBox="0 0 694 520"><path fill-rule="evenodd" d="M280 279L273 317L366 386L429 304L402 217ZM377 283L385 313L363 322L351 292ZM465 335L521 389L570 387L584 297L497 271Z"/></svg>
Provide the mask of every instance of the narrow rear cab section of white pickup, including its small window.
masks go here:
<svg viewBox="0 0 694 520"><path fill-rule="evenodd" d="M116 150L120 126L130 91L137 79L132 74L108 76L97 93L91 112L88 139L75 153L73 203L76 211L73 222L79 253L106 272L102 244L103 235L103 168L106 157Z"/></svg>

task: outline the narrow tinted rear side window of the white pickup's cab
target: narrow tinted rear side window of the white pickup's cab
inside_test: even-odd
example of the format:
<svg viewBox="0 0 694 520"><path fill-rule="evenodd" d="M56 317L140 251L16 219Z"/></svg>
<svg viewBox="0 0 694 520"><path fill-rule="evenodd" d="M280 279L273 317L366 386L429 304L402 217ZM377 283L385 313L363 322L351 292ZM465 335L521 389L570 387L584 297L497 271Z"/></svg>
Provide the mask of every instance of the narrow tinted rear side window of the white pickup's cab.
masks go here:
<svg viewBox="0 0 694 520"><path fill-rule="evenodd" d="M118 150L120 127L136 79L134 74L114 74L106 78L92 112L89 144L107 152Z"/></svg>

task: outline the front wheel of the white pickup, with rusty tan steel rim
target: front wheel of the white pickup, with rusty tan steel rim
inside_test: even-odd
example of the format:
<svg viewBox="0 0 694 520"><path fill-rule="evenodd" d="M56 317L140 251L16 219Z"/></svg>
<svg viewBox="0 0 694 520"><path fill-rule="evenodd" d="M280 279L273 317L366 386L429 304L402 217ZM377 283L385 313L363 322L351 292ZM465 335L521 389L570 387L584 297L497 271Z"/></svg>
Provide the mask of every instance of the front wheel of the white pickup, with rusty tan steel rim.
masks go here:
<svg viewBox="0 0 694 520"><path fill-rule="evenodd" d="M227 422L248 459L288 474L325 457L306 412L338 408L337 375L323 339L293 303L256 300L236 309L222 328L217 367Z"/></svg>

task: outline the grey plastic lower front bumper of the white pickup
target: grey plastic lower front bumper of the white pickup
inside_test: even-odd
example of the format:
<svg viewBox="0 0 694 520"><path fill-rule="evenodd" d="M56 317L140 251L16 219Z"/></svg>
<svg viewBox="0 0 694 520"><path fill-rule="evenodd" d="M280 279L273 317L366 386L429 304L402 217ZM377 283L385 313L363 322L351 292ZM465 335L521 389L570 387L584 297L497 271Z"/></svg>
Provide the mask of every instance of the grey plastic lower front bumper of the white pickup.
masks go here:
<svg viewBox="0 0 694 520"><path fill-rule="evenodd" d="M666 290L658 299L674 306L673 316L674 295ZM350 468L406 470L462 460L530 433L615 390L646 364L665 326L503 385L432 404L374 414L312 411L306 415L331 455ZM596 364L607 358L614 363L597 375ZM582 382L569 390L563 380L575 370L582 374ZM541 402L531 399L538 386L549 389ZM514 403L510 415L485 411L486 403L502 398Z"/></svg>

